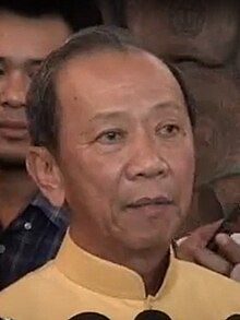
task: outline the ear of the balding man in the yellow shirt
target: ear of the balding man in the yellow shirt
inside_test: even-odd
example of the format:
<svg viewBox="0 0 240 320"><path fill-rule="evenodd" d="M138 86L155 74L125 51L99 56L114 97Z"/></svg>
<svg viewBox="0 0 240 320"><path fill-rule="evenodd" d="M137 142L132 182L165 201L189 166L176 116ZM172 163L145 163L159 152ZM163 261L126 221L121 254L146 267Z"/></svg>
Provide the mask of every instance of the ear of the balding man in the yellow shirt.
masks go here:
<svg viewBox="0 0 240 320"><path fill-rule="evenodd" d="M64 203L61 171L51 153L41 146L31 146L26 156L26 168L41 193L55 206Z"/></svg>

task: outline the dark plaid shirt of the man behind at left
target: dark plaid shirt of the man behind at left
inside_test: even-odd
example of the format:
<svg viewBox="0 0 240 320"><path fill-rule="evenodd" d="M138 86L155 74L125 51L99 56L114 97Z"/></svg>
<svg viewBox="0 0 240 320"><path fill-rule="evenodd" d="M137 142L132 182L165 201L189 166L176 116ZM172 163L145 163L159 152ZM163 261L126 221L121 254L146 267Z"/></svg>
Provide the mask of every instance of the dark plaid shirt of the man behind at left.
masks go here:
<svg viewBox="0 0 240 320"><path fill-rule="evenodd" d="M67 210L37 194L20 215L0 232L0 289L55 258L64 237Z"/></svg>

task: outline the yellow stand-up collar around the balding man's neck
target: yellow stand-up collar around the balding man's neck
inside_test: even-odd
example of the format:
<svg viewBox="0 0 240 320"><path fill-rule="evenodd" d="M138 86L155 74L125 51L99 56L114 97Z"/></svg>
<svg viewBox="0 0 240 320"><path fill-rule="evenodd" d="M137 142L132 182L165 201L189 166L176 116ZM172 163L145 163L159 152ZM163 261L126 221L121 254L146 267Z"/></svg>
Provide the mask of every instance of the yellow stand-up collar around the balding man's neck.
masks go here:
<svg viewBox="0 0 240 320"><path fill-rule="evenodd" d="M123 299L146 298L143 280L137 273L84 251L73 242L69 233L53 263L68 278L93 292ZM176 269L177 260L171 253L164 283L153 299L159 299L172 289Z"/></svg>

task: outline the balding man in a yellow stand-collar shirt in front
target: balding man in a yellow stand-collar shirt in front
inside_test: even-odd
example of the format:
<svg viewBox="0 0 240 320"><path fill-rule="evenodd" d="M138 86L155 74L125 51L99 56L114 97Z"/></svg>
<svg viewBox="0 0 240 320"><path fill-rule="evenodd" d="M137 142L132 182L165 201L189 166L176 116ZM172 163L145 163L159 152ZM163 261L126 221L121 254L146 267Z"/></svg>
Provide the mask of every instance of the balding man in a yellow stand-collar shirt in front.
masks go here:
<svg viewBox="0 0 240 320"><path fill-rule="evenodd" d="M240 311L236 282L170 253L194 178L191 106L176 76L111 27L76 34L44 63L27 99L27 167L52 204L67 200L70 230L56 260L0 294L1 317Z"/></svg>

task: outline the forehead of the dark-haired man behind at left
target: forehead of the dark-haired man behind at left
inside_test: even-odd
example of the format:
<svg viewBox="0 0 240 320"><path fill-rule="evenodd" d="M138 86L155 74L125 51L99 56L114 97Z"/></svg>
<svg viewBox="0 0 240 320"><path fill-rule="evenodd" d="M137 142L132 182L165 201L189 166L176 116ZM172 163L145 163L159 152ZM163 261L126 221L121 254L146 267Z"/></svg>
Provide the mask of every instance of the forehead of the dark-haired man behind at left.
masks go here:
<svg viewBox="0 0 240 320"><path fill-rule="evenodd" d="M41 59L70 34L59 16L25 17L0 11L0 56L10 59Z"/></svg>

